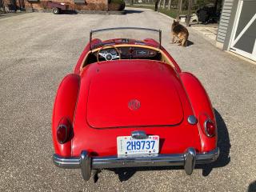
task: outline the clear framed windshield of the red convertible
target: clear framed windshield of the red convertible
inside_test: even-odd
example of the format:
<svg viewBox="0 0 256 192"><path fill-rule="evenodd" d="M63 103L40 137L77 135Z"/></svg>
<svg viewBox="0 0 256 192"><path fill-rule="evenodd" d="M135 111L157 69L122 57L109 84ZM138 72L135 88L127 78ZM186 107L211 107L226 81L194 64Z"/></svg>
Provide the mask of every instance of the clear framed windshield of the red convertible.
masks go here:
<svg viewBox="0 0 256 192"><path fill-rule="evenodd" d="M135 44L143 44L144 39L152 38L156 42L159 42L159 46L161 46L161 30L149 29L149 28L141 28L141 27L117 27L117 28L106 28L99 30L91 30L90 32L90 42L94 38L99 38L104 43L99 43L94 46L91 46L92 49L95 46L102 45L111 45L118 43L135 43ZM107 41L110 39L115 39L114 41Z"/></svg>

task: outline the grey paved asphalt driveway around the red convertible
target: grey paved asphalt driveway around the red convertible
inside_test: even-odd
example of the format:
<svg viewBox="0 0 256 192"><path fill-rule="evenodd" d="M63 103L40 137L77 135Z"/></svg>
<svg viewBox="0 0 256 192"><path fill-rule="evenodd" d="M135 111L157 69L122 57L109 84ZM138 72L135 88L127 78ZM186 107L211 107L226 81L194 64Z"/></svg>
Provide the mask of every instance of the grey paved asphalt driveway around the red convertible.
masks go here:
<svg viewBox="0 0 256 192"><path fill-rule="evenodd" d="M52 163L51 113L61 79L76 64L92 28L163 30L163 46L206 87L218 119L221 154L212 166L184 170L79 170ZM0 191L256 191L256 66L218 50L194 30L186 48L170 44L170 18L152 10L126 15L31 13L0 20Z"/></svg>

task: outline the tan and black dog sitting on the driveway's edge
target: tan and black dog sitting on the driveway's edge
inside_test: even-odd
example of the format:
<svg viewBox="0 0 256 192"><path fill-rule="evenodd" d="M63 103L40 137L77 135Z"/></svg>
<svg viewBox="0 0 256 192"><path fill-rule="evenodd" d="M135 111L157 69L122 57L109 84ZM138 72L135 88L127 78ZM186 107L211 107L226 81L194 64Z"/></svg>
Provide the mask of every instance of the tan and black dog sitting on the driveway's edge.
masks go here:
<svg viewBox="0 0 256 192"><path fill-rule="evenodd" d="M173 36L172 43L178 42L179 46L186 46L187 39L189 38L189 31L186 29L185 26L179 24L174 20L173 24L171 25L171 34ZM175 40L178 39L177 40Z"/></svg>

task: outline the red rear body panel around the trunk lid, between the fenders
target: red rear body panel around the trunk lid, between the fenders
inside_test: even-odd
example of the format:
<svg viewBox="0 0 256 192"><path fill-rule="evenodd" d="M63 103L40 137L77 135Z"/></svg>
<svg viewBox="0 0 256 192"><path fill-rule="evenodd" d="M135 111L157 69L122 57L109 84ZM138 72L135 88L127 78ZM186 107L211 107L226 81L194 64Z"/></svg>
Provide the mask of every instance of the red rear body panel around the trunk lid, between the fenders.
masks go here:
<svg viewBox="0 0 256 192"><path fill-rule="evenodd" d="M140 61L143 62L143 61ZM198 135L198 126L190 125L186 119L189 115L193 114L193 110L190 107L186 92L182 89L182 85L177 88L179 98L182 101L183 119L178 126L128 126L128 127L114 127L105 129L95 129L86 122L86 106L88 103L88 94L90 89L90 79L94 77L96 73L103 73L103 67L106 70L110 70L107 62L94 63L86 66L81 74L81 89L78 96L78 106L75 114L74 121L74 138L72 139L72 154L74 156L81 153L82 149L86 149L90 154L95 156L107 156L117 154L117 137L128 136L133 130L144 130L146 134L157 134L160 137L160 153L182 153L186 150L187 146L193 146L198 151L201 151L201 142ZM172 75L177 75L174 70L162 63L163 67L173 71ZM98 71L97 69L100 70ZM127 70L122 66L119 70ZM130 66L131 67L131 66ZM112 70L118 70L114 68ZM97 72L98 71L98 72ZM111 70L110 70L111 71ZM95 73L95 74L94 74ZM104 71L106 73L106 71ZM178 78L178 76L176 77ZM178 83L178 82L177 82ZM179 82L180 83L180 82ZM150 98L150 95L149 95ZM95 96L95 102L98 100L106 101L102 95ZM127 105L127 102L125 102ZM127 106L128 107L128 106ZM117 118L118 118L118 114Z"/></svg>

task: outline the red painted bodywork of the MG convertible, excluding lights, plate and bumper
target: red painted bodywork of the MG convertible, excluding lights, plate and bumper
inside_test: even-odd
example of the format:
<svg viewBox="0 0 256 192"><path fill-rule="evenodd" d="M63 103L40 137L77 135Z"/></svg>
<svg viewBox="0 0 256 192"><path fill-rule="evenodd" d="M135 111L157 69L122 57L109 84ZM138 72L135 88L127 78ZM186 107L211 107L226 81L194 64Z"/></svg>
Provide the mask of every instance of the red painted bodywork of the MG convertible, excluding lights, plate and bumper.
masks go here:
<svg viewBox="0 0 256 192"><path fill-rule="evenodd" d="M154 40L144 42L157 49L158 43ZM100 39L91 42L95 46L101 43ZM188 147L198 153L216 148L217 135L208 138L202 125L206 118L216 124L206 91L192 74L182 72L163 47L160 48L162 53L173 66L143 59L82 66L90 49L87 44L74 68L78 78L70 78L73 79L70 83L64 83L68 86L67 91L62 90L62 86L58 90L52 129L55 154L78 157L82 150L86 150L91 157L117 155L117 137L130 136L134 130L158 135L160 154L182 154ZM141 102L140 109L129 109L133 99ZM71 104L62 110L59 101L63 105ZM59 144L54 133L59 121L56 117L63 115L70 118L74 136L69 142ZM189 123L190 115L194 115L198 122Z"/></svg>

